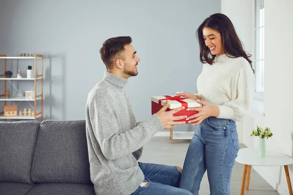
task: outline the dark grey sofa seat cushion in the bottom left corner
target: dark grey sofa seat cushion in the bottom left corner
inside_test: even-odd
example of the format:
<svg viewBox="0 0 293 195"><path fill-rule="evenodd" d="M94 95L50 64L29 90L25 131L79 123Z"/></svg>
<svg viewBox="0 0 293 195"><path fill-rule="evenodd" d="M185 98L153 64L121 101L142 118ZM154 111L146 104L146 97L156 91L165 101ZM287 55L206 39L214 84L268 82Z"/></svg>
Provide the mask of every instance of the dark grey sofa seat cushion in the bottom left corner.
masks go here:
<svg viewBox="0 0 293 195"><path fill-rule="evenodd" d="M0 182L0 195L25 195L35 184Z"/></svg>

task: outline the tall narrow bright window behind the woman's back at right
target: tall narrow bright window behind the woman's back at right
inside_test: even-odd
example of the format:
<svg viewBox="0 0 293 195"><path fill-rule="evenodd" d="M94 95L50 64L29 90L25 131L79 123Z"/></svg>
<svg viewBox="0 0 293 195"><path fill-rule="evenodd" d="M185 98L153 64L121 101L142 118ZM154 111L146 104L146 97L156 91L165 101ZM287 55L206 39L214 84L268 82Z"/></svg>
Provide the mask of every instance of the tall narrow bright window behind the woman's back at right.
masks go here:
<svg viewBox="0 0 293 195"><path fill-rule="evenodd" d="M255 96L254 98L263 99L264 93L264 37L265 37L265 6L264 0L254 0L254 52L253 66L255 71Z"/></svg>

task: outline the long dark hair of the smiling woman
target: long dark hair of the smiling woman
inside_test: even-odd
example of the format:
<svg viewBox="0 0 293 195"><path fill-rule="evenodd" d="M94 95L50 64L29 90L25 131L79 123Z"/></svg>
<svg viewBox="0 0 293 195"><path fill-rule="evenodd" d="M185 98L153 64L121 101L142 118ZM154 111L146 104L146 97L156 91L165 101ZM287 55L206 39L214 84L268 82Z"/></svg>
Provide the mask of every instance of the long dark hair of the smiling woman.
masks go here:
<svg viewBox="0 0 293 195"><path fill-rule="evenodd" d="M216 57L216 55L212 55L210 53L209 48L206 46L205 39L203 37L204 27L208 27L219 32L222 36L225 55L228 54L235 58L245 58L250 63L251 69L254 73L254 70L252 68L252 61L249 59L251 55L247 55L244 51L242 47L242 42L238 38L231 20L226 15L219 13L210 15L209 18L204 20L197 29L197 39L200 46L200 61L202 63L212 64ZM211 56L211 58L209 58L209 55Z"/></svg>

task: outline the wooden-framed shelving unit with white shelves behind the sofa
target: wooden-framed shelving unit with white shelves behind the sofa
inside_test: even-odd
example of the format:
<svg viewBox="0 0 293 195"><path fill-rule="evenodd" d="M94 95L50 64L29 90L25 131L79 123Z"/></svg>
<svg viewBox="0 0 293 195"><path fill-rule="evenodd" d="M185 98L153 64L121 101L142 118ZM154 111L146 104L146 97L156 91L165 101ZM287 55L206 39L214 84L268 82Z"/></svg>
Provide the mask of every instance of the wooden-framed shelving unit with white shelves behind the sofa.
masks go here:
<svg viewBox="0 0 293 195"><path fill-rule="evenodd" d="M4 112L0 112L0 119L4 119L4 121L6 121L6 119L31 119L31 120L37 120L39 118L41 118L41 121L43 120L43 55L40 54L35 54L34 57L9 57L6 55L0 55L0 59L4 59L4 72L6 71L6 61L7 59L13 60L13 59L26 59L26 60L34 60L35 61L35 66L34 66L34 70L35 70L35 74L34 74L34 78L6 78L5 75L0 75L0 80L3 80L4 82L4 94L0 94L0 102L4 102L4 106L6 106L6 102L7 101L16 101L18 103L22 102L22 101L26 101L30 104L30 102L34 102L34 106L32 106L30 104L30 106L33 108L33 110L35 111L35 115L34 116L16 116L16 117L4 117ZM37 60L40 59L42 60L42 74L37 75ZM0 61L0 67L1 67L1 63L2 60ZM1 69L0 69L1 70ZM3 73L4 73L3 72ZM7 82L9 82L17 91L18 89L12 84L12 80L16 80L16 81L23 81L23 80L31 80L34 81L34 91L35 94L33 96L32 99L26 99L26 98L5 98L5 92L6 92L6 84ZM41 94L37 95L37 84L41 82ZM41 112L37 112L37 101L41 101Z"/></svg>

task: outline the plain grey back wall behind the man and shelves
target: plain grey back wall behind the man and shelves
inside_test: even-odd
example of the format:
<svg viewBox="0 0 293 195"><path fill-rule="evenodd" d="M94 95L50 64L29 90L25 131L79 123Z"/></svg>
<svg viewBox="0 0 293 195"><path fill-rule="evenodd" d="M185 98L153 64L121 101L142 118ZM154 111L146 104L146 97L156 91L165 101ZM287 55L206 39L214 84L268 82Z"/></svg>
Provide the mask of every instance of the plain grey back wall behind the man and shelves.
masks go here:
<svg viewBox="0 0 293 195"><path fill-rule="evenodd" d="M103 41L131 36L141 61L126 93L144 120L151 96L197 92L202 65L195 31L220 11L220 0L1 0L0 53L45 55L44 119L84 119L87 94L105 71ZM8 64L14 76L18 68L25 76L32 62Z"/></svg>

